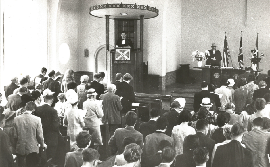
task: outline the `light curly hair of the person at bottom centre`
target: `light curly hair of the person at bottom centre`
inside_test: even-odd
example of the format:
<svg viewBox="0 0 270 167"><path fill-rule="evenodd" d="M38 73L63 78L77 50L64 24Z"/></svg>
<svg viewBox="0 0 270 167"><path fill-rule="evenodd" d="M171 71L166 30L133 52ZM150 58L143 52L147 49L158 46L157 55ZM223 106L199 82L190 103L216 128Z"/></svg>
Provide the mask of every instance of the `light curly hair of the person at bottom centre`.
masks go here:
<svg viewBox="0 0 270 167"><path fill-rule="evenodd" d="M135 143L131 143L125 147L124 158L128 163L136 162L141 158L141 147Z"/></svg>

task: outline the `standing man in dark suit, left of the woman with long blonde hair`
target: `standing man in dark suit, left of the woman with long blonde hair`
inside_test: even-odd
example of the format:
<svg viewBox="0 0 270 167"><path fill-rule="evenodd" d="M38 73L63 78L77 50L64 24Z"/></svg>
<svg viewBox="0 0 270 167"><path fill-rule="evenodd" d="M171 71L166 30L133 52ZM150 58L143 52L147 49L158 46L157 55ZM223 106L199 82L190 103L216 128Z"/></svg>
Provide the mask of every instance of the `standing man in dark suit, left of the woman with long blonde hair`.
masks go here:
<svg viewBox="0 0 270 167"><path fill-rule="evenodd" d="M44 86L44 90L45 89L49 89L51 90L52 92L54 92L53 94L53 104L52 104L52 107L54 107L55 103L58 102L58 99L57 99L57 96L61 91L60 89L60 84L59 82L55 81L54 78L55 78L55 71L52 70L49 72L48 74L49 76L49 79L47 79L46 81L43 81L42 82L42 85Z"/></svg>

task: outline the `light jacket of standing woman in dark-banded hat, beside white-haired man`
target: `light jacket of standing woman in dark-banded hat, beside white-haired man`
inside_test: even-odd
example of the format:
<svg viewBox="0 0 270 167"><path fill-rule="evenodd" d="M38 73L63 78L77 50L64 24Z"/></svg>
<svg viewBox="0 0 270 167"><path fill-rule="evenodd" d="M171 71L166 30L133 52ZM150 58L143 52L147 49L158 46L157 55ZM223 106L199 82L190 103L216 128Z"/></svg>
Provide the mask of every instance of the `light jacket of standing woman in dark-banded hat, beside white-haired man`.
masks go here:
<svg viewBox="0 0 270 167"><path fill-rule="evenodd" d="M86 127L100 125L100 119L98 118L103 117L103 110L99 106L97 101L94 101L92 99L87 99L85 102L83 102L83 110L87 109L87 113L85 117L83 118Z"/></svg>

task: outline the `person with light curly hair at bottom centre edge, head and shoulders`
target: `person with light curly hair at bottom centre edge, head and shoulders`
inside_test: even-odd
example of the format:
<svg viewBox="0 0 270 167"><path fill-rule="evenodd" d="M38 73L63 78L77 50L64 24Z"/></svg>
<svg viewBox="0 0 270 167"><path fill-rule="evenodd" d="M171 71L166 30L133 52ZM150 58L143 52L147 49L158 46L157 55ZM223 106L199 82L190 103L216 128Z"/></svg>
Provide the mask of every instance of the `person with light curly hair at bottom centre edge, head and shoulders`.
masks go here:
<svg viewBox="0 0 270 167"><path fill-rule="evenodd" d="M139 145L135 143L127 145L123 153L127 163L122 165L121 167L129 167L129 166L137 167L136 164L140 163L141 160L141 153L142 150ZM116 165L114 165L114 167L116 167Z"/></svg>

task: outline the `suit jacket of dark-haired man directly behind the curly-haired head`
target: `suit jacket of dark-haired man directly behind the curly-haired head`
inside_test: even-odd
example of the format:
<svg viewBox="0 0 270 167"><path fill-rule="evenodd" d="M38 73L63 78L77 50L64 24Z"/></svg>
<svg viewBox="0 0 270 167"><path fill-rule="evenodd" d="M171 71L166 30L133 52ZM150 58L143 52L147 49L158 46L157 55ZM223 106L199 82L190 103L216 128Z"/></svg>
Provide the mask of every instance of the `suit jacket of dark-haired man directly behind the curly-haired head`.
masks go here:
<svg viewBox="0 0 270 167"><path fill-rule="evenodd" d="M108 145L112 149L117 150L117 154L121 154L124 151L122 145L124 138L126 137L133 137L136 141L136 144L141 146L141 149L143 148L143 135L131 126L116 129L114 135L112 135L112 137L110 138Z"/></svg>

